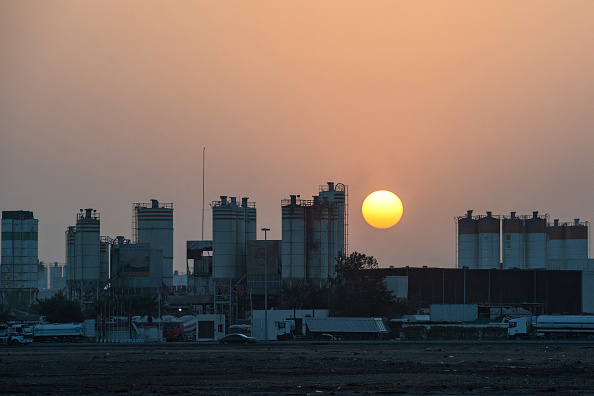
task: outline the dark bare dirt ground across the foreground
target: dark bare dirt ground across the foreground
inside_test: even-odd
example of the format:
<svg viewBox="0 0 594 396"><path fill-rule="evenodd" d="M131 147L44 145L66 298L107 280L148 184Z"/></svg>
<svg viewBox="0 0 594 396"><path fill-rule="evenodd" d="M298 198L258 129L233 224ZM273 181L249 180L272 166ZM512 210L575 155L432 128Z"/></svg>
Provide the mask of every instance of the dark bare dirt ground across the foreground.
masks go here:
<svg viewBox="0 0 594 396"><path fill-rule="evenodd" d="M0 394L594 394L594 343L2 347Z"/></svg>

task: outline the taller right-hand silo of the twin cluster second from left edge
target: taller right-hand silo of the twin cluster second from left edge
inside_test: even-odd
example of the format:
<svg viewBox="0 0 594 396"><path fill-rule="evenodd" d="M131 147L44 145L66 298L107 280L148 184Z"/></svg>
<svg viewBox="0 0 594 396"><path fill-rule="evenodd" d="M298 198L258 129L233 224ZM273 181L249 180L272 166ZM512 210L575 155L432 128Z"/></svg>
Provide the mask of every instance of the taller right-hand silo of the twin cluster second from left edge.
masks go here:
<svg viewBox="0 0 594 396"><path fill-rule="evenodd" d="M100 241L99 213L93 209L84 211L81 209L76 218L76 233L74 234L74 280L84 282L99 280Z"/></svg>

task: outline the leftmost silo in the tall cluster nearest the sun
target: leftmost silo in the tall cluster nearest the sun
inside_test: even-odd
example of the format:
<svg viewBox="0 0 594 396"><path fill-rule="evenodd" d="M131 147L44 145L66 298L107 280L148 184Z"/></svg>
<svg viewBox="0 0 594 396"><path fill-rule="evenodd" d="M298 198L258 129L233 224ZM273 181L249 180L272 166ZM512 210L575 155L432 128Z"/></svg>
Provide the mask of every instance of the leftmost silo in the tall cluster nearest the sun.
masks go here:
<svg viewBox="0 0 594 396"><path fill-rule="evenodd" d="M281 202L282 276L285 280L305 279L305 204L297 195Z"/></svg>

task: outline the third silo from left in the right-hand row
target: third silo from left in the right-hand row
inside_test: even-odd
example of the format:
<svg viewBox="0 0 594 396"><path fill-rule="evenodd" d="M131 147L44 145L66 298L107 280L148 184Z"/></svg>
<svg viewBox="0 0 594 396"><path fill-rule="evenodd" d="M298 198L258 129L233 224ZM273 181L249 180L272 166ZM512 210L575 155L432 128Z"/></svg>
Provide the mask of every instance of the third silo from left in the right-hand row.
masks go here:
<svg viewBox="0 0 594 396"><path fill-rule="evenodd" d="M503 269L526 267L526 228L524 220L511 212L503 218L502 224Z"/></svg>

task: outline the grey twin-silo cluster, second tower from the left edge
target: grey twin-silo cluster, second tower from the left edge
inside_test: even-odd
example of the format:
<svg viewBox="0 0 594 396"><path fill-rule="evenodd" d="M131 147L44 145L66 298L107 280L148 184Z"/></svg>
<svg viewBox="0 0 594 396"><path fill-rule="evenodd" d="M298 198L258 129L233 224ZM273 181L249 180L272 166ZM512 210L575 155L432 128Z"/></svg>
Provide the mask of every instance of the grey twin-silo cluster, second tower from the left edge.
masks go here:
<svg viewBox="0 0 594 396"><path fill-rule="evenodd" d="M76 226L66 230L66 283L72 298L96 295L101 279L101 220L94 209L81 209Z"/></svg>

